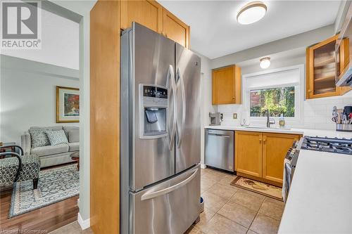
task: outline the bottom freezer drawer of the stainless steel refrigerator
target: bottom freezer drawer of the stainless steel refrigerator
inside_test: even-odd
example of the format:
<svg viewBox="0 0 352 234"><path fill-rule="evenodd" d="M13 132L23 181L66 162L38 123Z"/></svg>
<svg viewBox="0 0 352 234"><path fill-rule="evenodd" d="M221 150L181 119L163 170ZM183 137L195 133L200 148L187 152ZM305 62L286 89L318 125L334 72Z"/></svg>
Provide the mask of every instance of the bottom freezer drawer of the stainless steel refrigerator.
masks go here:
<svg viewBox="0 0 352 234"><path fill-rule="evenodd" d="M130 193L130 233L184 233L200 214L201 167Z"/></svg>

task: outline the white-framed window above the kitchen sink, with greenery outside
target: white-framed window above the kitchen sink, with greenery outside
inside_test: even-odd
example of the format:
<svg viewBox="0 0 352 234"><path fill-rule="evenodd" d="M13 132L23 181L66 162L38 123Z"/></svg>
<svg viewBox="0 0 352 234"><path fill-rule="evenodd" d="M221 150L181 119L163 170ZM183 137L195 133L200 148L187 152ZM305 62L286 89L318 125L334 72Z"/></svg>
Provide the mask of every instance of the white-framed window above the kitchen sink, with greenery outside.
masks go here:
<svg viewBox="0 0 352 234"><path fill-rule="evenodd" d="M243 75L243 100L249 122L262 125L270 117L284 115L287 122L303 120L304 65L282 67Z"/></svg>

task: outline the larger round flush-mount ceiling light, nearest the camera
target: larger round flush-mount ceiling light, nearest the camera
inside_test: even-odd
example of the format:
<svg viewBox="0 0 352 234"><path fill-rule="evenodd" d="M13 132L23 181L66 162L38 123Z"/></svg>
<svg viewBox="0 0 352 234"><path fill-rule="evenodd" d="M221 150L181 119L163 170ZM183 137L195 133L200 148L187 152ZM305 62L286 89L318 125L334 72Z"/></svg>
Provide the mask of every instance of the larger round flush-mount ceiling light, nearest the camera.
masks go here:
<svg viewBox="0 0 352 234"><path fill-rule="evenodd" d="M257 22L264 17L266 13L266 5L261 1L252 1L246 6L243 6L237 13L237 21L241 25L249 25Z"/></svg>

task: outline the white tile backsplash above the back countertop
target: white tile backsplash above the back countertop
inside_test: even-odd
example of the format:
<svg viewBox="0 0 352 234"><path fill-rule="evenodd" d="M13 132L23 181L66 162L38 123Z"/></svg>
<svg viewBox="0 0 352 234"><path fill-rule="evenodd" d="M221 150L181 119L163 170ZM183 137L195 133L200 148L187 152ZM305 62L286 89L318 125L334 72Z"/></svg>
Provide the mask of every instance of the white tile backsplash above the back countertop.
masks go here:
<svg viewBox="0 0 352 234"><path fill-rule="evenodd" d="M344 96L334 96L329 98L315 98L304 100L303 102L303 119L298 123L287 121L288 127L297 127L305 129L335 129L335 123L332 122L332 108L334 105L338 109L344 108L345 105L352 105L352 91ZM244 105L218 105L218 112L222 113L224 120L222 125L240 125L242 119L249 119ZM233 113L237 113L237 119L233 119ZM251 123L249 120L247 122ZM257 123L251 123L256 125ZM263 122L260 123L264 124Z"/></svg>

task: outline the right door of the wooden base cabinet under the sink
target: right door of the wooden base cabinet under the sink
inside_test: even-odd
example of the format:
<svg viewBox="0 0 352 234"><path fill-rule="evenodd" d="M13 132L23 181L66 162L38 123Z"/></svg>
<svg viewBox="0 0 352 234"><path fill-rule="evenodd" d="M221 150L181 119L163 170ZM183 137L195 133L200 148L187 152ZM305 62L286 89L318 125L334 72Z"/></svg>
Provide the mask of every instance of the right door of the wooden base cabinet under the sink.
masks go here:
<svg viewBox="0 0 352 234"><path fill-rule="evenodd" d="M282 183L284 157L294 141L300 136L294 134L263 133L263 177Z"/></svg>

